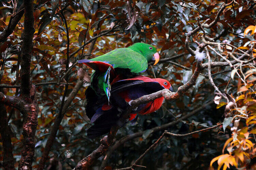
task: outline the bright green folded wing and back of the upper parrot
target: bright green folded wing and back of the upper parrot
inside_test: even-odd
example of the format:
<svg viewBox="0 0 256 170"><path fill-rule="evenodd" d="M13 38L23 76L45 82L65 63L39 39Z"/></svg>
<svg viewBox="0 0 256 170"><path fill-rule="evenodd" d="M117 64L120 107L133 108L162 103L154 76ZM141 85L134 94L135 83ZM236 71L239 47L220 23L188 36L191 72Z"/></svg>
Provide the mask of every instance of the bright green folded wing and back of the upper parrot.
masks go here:
<svg viewBox="0 0 256 170"><path fill-rule="evenodd" d="M145 71L148 65L143 55L129 48L118 48L90 60L111 64L113 68L128 68L134 73Z"/></svg>

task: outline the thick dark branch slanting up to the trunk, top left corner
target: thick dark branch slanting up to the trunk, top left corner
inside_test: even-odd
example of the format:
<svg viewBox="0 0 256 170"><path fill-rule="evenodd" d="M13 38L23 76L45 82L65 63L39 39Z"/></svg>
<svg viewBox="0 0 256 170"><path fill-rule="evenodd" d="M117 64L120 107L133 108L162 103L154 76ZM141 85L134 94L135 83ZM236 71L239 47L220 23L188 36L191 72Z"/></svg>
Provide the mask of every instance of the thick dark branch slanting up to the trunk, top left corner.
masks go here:
<svg viewBox="0 0 256 170"><path fill-rule="evenodd" d="M13 16L13 15L11 16L8 26L6 26L3 30L3 32L0 34L0 43L4 42L5 39L13 33L17 23L22 18L23 14L24 14L24 4L22 4L19 7L19 10L15 16Z"/></svg>

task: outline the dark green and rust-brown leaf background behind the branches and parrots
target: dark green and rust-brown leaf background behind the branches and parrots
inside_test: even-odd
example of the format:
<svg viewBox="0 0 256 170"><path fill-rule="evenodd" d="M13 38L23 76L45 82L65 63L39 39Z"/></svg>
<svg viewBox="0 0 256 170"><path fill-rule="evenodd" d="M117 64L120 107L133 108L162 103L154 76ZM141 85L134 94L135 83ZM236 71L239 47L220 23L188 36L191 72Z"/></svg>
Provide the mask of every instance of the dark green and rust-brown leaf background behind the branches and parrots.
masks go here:
<svg viewBox="0 0 256 170"><path fill-rule="evenodd" d="M160 51L161 58L176 57L166 61L162 60L155 66L149 66L143 75L151 78L154 78L155 75L158 78L167 79L176 91L179 86L188 81L196 67L195 57L188 53L184 45L187 32L198 26L198 18L200 22L208 18L214 19L223 3L223 1L218 0L34 1L35 33L31 63L32 83L55 83L36 86L40 112L35 137L33 167L39 166L51 127L60 111L65 84L69 84L65 98L67 100L79 79L86 82L64 111L65 116L49 153L46 168L73 169L82 158L100 145L100 138L90 140L86 136L86 130L90 127L90 123L85 113L84 93L89 85L89 75L92 70L75 64L77 60L85 57L94 58L116 48L128 47L136 42L152 44ZM17 8L21 4L22 1L17 0ZM13 3L12 1L2 1L0 6L0 31L3 31L13 13ZM67 20L69 45L66 26L61 16L62 12ZM240 56L243 51L250 48L250 43L255 41L255 35L244 36L243 34L245 28L250 25L255 25L255 1L237 0L236 3L226 7L221 14L220 21L215 26L204 30L205 34L211 38L221 34L221 38L217 42L235 46L222 44L224 51ZM24 16L20 19L14 32L0 44L1 85L19 85L20 78L17 77L17 70L19 70L23 27ZM109 32L106 33L106 31ZM76 52L85 42L102 33L106 35L99 36L96 41L86 45L83 52L82 49ZM86 36L84 36L85 34ZM203 32L199 31L190 39L192 49L198 46L196 41L202 42L199 37L202 34ZM68 46L69 49L67 49ZM242 52L237 49L238 47ZM65 77L66 80L61 80L66 71L67 55L69 55L68 66L75 66L69 72L68 77ZM223 61L213 51L210 51L210 55L212 61ZM203 60L203 63L208 63L208 60ZM252 65L255 69L255 63ZM81 67L85 71L82 77L77 75L77 70ZM253 67L243 66L242 69L245 73ZM216 86L222 92L227 92L235 98L252 91L252 89L255 90L255 84L250 88L247 87L247 90L241 90L240 88L244 86L244 83L238 75L231 79L232 69L229 66L212 68L211 71ZM255 70L253 72L254 75L252 74L252 79L248 84L255 83ZM166 130L184 134L223 122L225 107L217 109L216 104L212 102L216 91L207 74L207 69L203 70L197 79L197 84L190 88L182 98L171 102L165 101L162 108L156 113L140 116L135 125L127 124L120 129L116 135L116 140L140 131L143 131L143 135L128 140L115 149L109 155L108 161L104 163L106 168L130 166L162 134L163 130L152 133L151 129L156 126L176 121ZM1 89L6 95L19 96L18 88ZM226 102L225 100L222 101ZM210 104L207 104L209 102ZM251 102L253 103L250 105L255 107L255 99ZM202 108L204 104L207 105ZM5 108L10 117L9 128L13 155L16 161L15 167L17 168L22 149L23 117L17 109L10 106ZM194 115L184 120L177 120L197 108L201 109ZM241 121L239 127L242 128L243 126L249 125ZM252 129L253 126L254 124L251 124L249 128ZM223 154L223 146L232 134L231 127L232 124L227 127L225 134L220 128L188 137L164 138L154 150L143 158L140 165L147 166L147 169L152 170L207 169L214 157ZM250 140L255 143L254 134L251 134L250 137L252 137ZM0 143L0 161L3 160L1 147ZM255 152L255 150L253 151ZM250 156L251 159L247 159L246 163L240 162L239 166L247 168L254 166L255 168L253 165L253 162L255 163L254 152ZM225 150L225 153L228 152ZM102 168L103 158L104 156L97 160L94 169ZM213 167L216 168L217 163L214 163Z"/></svg>

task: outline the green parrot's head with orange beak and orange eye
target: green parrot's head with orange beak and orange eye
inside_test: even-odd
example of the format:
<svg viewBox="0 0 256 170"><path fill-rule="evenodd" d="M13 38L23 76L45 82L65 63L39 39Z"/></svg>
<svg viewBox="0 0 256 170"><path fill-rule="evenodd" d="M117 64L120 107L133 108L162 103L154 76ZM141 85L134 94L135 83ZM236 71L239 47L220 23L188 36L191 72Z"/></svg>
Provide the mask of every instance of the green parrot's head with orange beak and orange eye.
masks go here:
<svg viewBox="0 0 256 170"><path fill-rule="evenodd" d="M156 65L159 61L160 56L156 51L156 48L150 44L135 43L128 48L143 55L147 62L154 62L154 65Z"/></svg>

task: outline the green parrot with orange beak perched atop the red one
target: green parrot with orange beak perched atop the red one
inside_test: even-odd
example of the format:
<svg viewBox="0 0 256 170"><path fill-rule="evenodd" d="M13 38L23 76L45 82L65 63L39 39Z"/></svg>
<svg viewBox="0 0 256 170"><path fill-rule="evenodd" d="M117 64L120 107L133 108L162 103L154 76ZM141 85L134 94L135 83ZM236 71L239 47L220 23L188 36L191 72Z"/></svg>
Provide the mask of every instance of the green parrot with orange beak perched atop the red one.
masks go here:
<svg viewBox="0 0 256 170"><path fill-rule="evenodd" d="M147 69L149 62L159 61L155 47L145 43L135 43L127 48L118 48L90 60L80 60L95 70L91 75L91 87L97 95L110 97L111 84L121 79L134 77Z"/></svg>

